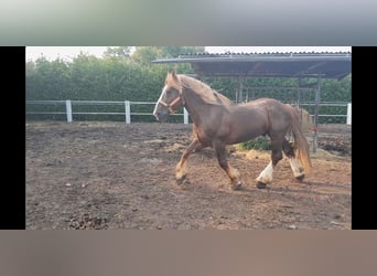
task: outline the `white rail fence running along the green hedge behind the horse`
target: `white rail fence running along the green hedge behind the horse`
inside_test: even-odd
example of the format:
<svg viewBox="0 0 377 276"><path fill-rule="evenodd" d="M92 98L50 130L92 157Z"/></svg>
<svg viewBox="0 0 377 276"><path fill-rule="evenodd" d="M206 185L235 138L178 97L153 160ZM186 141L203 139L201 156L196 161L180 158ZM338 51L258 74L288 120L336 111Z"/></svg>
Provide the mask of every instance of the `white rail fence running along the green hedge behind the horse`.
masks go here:
<svg viewBox="0 0 377 276"><path fill-rule="evenodd" d="M140 116L153 116L152 113L136 113L132 112L132 106L136 105L151 105L154 106L155 103L153 102L130 102L130 100L125 100L125 102L111 102L111 100L26 100L26 106L32 106L32 105L65 105L65 110L64 112L28 112L26 115L66 115L66 119L68 123L73 121L74 115L122 115L125 116L125 120L127 124L131 123L131 115L140 115ZM73 106L78 106L78 105L90 105L90 106L96 106L96 105L109 105L109 106L123 106L125 112L74 112ZM315 104L313 103L302 103L301 106L314 106ZM331 114L319 114L319 117L345 117L346 118L346 124L351 125L351 104L349 103L332 103L332 102L323 102L320 103L320 106L345 106L347 107L347 112L344 115L331 115ZM183 123L188 124L188 113L185 108L183 108L182 114L174 114L174 116L182 116L183 117ZM311 115L314 116L314 115Z"/></svg>

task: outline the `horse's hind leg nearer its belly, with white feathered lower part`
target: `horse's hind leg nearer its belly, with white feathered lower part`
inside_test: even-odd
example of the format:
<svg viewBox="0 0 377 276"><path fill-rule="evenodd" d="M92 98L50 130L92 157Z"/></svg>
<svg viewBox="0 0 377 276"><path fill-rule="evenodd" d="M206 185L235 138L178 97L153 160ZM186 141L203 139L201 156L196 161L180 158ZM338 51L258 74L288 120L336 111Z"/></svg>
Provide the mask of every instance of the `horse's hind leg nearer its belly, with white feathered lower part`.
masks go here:
<svg viewBox="0 0 377 276"><path fill-rule="evenodd" d="M272 139L271 138L271 161L269 164L260 172L257 180L257 187L259 189L266 188L266 184L272 182L272 174L273 174L273 168L277 166L277 163L282 159L282 145L281 139Z"/></svg>

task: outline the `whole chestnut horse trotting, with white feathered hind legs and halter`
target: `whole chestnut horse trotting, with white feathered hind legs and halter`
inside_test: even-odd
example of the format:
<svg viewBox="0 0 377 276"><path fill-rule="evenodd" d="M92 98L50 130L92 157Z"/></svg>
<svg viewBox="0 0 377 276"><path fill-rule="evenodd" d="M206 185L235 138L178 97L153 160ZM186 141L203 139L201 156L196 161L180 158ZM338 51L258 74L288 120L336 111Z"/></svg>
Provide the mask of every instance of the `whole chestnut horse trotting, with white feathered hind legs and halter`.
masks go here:
<svg viewBox="0 0 377 276"><path fill-rule="evenodd" d="M230 179L230 188L239 189L240 174L227 161L226 145L265 135L271 139L272 152L271 161L256 179L258 188L265 188L272 181L273 168L282 159L282 152L289 158L294 178L302 180L310 172L309 144L300 129L297 108L272 98L236 105L203 82L169 72L153 115L158 120L165 121L181 106L186 108L193 120L194 139L176 164L177 183L187 174L188 156L202 148L212 147L219 166ZM293 147L287 140L287 135L293 137Z"/></svg>

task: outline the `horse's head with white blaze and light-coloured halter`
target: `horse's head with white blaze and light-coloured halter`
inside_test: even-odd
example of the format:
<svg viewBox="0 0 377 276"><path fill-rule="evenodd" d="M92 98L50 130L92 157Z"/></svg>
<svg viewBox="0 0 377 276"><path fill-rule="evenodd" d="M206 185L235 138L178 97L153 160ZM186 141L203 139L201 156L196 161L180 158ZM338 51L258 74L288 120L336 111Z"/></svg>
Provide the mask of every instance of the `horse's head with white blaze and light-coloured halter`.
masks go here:
<svg viewBox="0 0 377 276"><path fill-rule="evenodd" d="M184 100L182 97L182 86L175 71L169 72L161 96L155 103L154 117L160 121L166 121L169 115L174 114Z"/></svg>

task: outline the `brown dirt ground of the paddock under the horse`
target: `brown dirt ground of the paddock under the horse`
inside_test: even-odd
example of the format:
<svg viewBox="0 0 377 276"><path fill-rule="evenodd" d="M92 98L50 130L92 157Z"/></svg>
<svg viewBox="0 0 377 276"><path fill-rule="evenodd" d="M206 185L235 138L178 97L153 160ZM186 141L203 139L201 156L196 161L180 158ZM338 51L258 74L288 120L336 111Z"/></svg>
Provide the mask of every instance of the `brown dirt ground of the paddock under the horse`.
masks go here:
<svg viewBox="0 0 377 276"><path fill-rule="evenodd" d="M26 229L351 229L349 126L320 126L303 182L284 158L273 182L258 189L270 152L229 150L240 191L228 189L212 149L192 155L188 181L176 184L191 131L182 124L26 124Z"/></svg>

